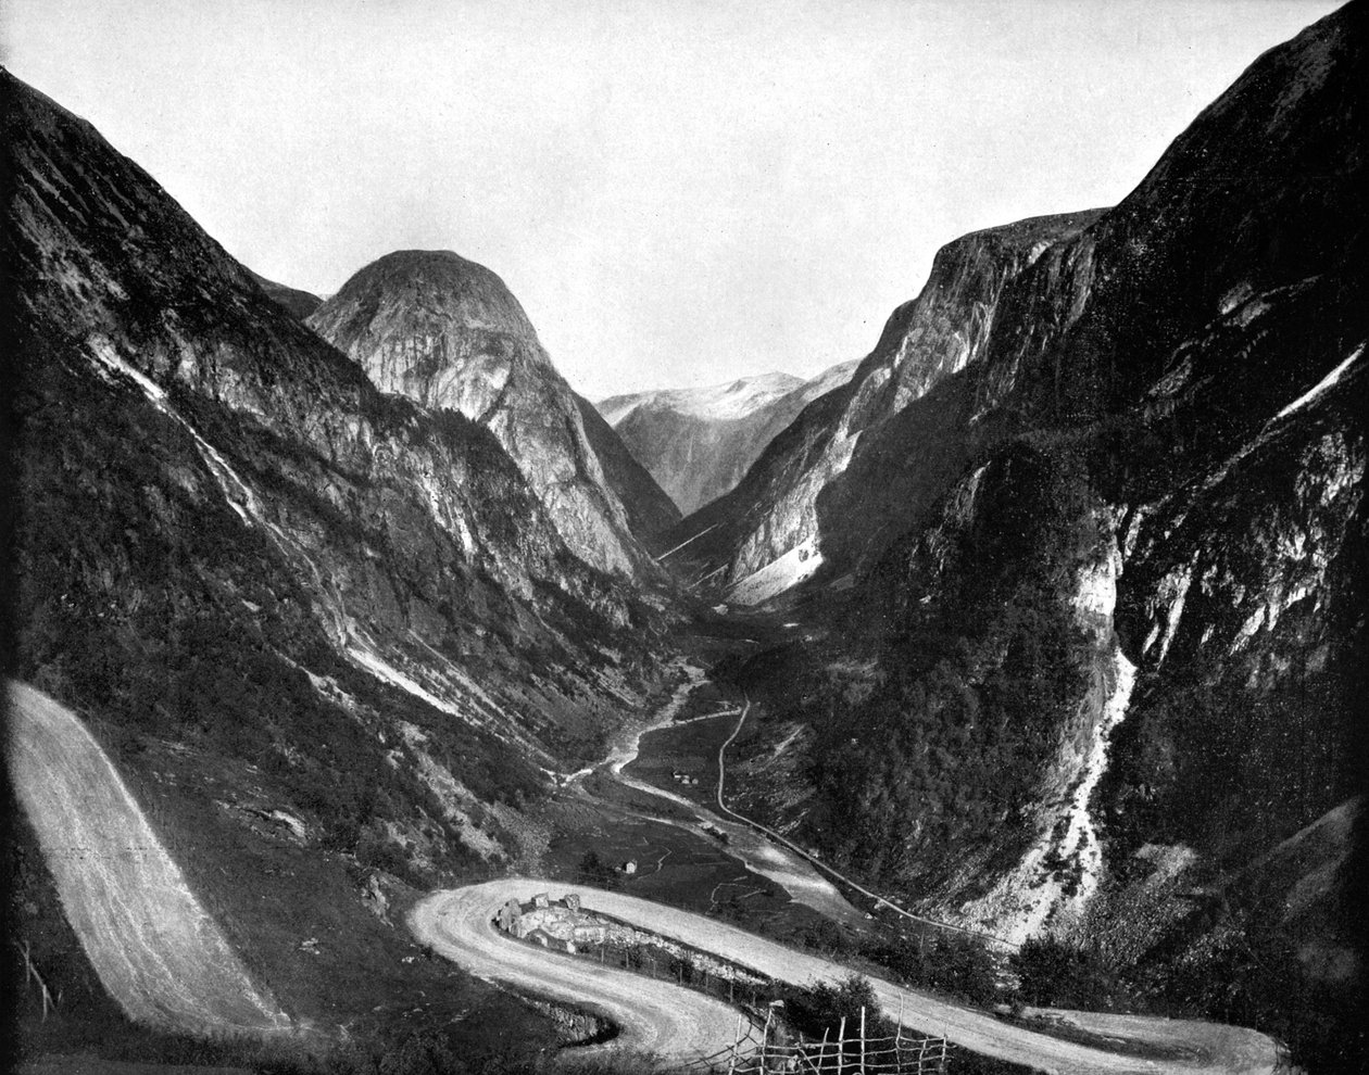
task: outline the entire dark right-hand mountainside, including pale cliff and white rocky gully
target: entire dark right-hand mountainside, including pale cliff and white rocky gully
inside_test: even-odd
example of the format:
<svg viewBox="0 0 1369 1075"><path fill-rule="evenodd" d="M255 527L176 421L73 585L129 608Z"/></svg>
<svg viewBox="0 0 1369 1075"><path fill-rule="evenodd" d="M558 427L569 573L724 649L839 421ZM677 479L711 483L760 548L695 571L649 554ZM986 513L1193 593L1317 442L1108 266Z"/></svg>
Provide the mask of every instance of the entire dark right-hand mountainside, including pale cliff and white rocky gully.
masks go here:
<svg viewBox="0 0 1369 1075"><path fill-rule="evenodd" d="M815 641L747 673L783 721L739 777L805 744L786 832L1312 1054L1362 998L1350 837L1277 848L1361 788L1366 25L1261 56L1116 208L945 248L671 535L732 600L808 580Z"/></svg>

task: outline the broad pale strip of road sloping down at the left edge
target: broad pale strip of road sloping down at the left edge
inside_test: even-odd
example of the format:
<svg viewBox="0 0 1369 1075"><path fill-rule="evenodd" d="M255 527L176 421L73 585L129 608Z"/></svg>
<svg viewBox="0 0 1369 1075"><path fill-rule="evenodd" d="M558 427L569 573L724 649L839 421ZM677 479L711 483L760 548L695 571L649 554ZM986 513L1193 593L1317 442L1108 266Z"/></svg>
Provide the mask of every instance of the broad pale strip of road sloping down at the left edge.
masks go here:
<svg viewBox="0 0 1369 1075"><path fill-rule="evenodd" d="M10 778L110 996L131 1019L168 1030L293 1030L81 719L26 684L8 684L8 703Z"/></svg>

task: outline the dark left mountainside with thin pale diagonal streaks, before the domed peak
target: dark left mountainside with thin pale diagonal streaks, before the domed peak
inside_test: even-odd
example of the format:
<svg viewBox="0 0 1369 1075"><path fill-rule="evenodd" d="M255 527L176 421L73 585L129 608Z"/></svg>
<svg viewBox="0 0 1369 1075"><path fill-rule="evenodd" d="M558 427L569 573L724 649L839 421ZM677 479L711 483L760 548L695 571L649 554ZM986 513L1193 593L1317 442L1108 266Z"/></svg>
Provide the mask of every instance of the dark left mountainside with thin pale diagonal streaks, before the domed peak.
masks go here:
<svg viewBox="0 0 1369 1075"><path fill-rule="evenodd" d="M654 674L661 611L487 429L378 391L93 127L0 94L15 674L116 749L286 1012L341 1020L323 986L397 956L297 966L301 923L360 908L338 856L426 884L519 855L539 770L597 756ZM309 900L252 864L279 848Z"/></svg>

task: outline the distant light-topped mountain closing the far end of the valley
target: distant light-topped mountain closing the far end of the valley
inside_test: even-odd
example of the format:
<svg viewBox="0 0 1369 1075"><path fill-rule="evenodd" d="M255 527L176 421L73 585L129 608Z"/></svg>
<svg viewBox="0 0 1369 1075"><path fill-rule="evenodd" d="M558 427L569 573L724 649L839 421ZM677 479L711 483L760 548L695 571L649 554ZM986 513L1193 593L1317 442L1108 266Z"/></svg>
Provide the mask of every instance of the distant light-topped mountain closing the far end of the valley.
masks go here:
<svg viewBox="0 0 1369 1075"><path fill-rule="evenodd" d="M780 429L854 369L856 362L842 362L808 382L765 373L708 388L615 395L598 409L680 510L694 512L730 492Z"/></svg>

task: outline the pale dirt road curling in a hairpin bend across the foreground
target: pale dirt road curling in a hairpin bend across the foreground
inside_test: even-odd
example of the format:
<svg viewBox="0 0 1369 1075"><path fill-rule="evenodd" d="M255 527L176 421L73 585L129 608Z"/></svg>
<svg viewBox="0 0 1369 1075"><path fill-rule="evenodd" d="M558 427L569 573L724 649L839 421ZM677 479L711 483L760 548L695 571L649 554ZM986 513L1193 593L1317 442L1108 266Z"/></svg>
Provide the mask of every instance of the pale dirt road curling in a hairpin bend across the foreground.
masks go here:
<svg viewBox="0 0 1369 1075"><path fill-rule="evenodd" d="M720 1001L628 971L543 952L501 935L494 915L509 899L538 892L578 893L587 910L632 922L695 948L723 953L772 978L805 985L850 974L847 967L797 952L734 926L616 892L567 886L535 878L501 878L435 892L409 915L409 927L437 952L474 974L534 990L608 1015L622 1027L615 1045L660 1056L693 1059L732 1044L737 1012ZM1088 1012L1050 1012L1061 1022L1127 1045L1162 1049L1172 1059L1147 1060L1062 1041L1013 1026L980 1011L872 979L880 1007L902 1012L905 1026L947 1038L977 1053L1060 1075L1114 1072L1227 1072L1269 1075L1279 1063L1273 1039L1254 1030L1188 1020Z"/></svg>

